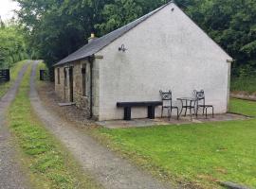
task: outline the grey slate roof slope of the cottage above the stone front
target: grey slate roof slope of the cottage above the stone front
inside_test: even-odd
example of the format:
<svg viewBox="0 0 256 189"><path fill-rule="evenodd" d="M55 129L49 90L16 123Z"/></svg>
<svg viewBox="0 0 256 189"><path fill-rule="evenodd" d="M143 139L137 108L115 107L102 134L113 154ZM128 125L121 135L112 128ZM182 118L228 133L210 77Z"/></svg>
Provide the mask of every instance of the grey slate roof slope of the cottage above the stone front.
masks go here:
<svg viewBox="0 0 256 189"><path fill-rule="evenodd" d="M132 23L126 25L126 26L122 26L119 29L112 31L109 34L107 34L105 36L102 36L99 39L94 40L91 43L85 44L84 46L82 46L82 48L80 48L79 50L70 54L69 56L64 58L64 60L59 61L54 66L62 65L64 63L68 63L68 62L71 62L71 61L74 61L74 60L82 60L86 57L90 57L90 56L94 55L95 53L99 52L103 47L105 47L109 43L112 43L113 41L118 39L120 36L122 36L123 34L128 32L132 28L136 27L137 25L139 25L140 23L142 23L143 21L145 21L146 19L148 19L149 17L154 15L157 11L159 11L160 9L165 8L166 6L168 6L171 3L172 2L166 4L166 5L158 8L158 9L155 9L154 11L138 18L136 21L134 21L134 22L132 22Z"/></svg>

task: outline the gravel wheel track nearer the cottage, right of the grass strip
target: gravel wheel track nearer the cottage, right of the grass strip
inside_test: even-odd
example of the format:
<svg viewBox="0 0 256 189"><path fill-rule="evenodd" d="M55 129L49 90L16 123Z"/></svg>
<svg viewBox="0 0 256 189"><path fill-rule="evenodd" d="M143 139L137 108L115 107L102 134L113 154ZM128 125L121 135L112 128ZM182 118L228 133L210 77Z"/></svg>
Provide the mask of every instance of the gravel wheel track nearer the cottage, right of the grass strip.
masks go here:
<svg viewBox="0 0 256 189"><path fill-rule="evenodd" d="M57 115L47 112L35 89L36 66L37 62L34 62L30 78L30 100L33 109L45 123L46 128L62 141L82 164L85 171L89 171L106 189L170 188L99 145L80 129L73 127Z"/></svg>

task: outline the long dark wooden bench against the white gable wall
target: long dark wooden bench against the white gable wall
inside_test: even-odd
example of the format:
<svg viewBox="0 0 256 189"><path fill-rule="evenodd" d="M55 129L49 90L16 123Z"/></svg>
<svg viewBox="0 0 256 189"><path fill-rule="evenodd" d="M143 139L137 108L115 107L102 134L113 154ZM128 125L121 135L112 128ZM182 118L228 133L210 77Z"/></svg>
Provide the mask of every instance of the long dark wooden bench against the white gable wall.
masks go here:
<svg viewBox="0 0 256 189"><path fill-rule="evenodd" d="M117 107L124 108L124 120L131 120L132 107L148 107L148 118L155 119L155 107L162 104L162 101L118 102Z"/></svg>

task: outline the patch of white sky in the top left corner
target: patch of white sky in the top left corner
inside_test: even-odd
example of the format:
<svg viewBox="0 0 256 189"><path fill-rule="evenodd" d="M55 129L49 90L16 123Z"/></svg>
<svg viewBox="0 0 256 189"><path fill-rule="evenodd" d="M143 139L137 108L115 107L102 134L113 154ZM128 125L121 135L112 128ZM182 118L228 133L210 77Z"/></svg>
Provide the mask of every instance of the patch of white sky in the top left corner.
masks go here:
<svg viewBox="0 0 256 189"><path fill-rule="evenodd" d="M14 16L13 9L19 9L16 2L12 0L0 0L0 15L2 20L9 20Z"/></svg>

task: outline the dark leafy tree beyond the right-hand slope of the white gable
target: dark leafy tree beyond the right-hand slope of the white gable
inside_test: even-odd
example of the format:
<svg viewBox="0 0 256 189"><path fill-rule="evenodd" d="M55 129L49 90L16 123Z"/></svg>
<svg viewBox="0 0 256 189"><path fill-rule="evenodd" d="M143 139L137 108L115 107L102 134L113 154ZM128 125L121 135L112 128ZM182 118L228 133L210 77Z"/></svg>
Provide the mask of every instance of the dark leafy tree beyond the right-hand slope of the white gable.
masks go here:
<svg viewBox="0 0 256 189"><path fill-rule="evenodd" d="M234 76L239 76L244 68L251 73L256 70L255 10L254 0L205 0L197 3L196 9L188 9L192 19L236 60Z"/></svg>

